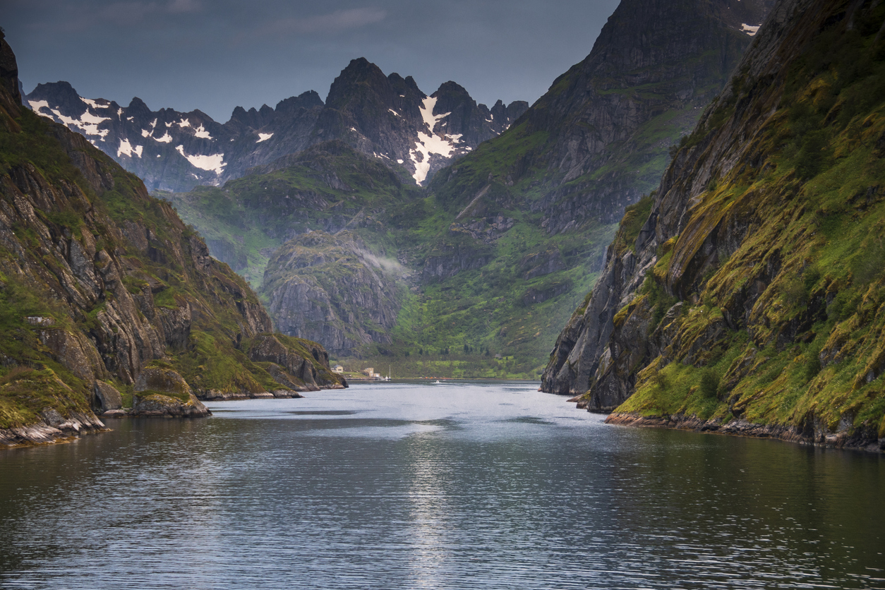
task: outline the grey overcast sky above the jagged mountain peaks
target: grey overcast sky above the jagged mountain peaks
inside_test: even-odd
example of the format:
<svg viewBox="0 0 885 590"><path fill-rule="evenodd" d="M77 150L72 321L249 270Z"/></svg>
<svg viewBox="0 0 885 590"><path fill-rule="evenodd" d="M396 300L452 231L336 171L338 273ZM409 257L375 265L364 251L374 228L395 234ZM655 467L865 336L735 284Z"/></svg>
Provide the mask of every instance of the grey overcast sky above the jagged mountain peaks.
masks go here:
<svg viewBox="0 0 885 590"><path fill-rule="evenodd" d="M543 95L593 47L618 0L0 0L25 91L67 80L87 98L152 110L234 107L329 85L350 59L455 80L489 107Z"/></svg>

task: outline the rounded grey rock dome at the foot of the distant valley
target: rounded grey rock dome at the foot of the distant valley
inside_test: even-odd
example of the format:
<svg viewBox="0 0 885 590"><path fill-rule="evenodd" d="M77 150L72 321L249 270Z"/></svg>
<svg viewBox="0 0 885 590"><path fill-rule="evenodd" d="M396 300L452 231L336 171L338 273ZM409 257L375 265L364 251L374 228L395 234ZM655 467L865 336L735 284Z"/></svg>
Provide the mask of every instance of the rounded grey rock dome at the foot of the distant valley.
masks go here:
<svg viewBox="0 0 885 590"><path fill-rule="evenodd" d="M318 230L274 253L262 292L282 333L350 356L367 344L392 342L401 273L396 260L373 256L358 234Z"/></svg>

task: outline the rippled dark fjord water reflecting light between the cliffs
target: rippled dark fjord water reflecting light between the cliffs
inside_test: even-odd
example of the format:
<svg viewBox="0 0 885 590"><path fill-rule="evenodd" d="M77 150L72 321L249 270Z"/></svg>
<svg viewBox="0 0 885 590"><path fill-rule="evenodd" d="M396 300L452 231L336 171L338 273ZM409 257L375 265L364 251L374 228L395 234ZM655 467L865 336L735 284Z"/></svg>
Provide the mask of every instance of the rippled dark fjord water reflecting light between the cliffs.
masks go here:
<svg viewBox="0 0 885 590"><path fill-rule="evenodd" d="M885 461L356 386L0 453L3 588L885 587Z"/></svg>

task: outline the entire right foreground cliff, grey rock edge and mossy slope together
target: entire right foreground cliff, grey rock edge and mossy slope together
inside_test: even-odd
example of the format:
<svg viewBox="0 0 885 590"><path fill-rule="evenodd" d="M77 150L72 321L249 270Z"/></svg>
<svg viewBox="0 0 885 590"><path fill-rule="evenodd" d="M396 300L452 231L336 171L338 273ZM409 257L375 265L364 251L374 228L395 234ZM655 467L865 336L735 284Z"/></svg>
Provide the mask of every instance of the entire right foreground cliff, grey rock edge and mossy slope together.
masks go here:
<svg viewBox="0 0 885 590"><path fill-rule="evenodd" d="M628 212L545 390L620 421L879 447L883 19L776 5Z"/></svg>

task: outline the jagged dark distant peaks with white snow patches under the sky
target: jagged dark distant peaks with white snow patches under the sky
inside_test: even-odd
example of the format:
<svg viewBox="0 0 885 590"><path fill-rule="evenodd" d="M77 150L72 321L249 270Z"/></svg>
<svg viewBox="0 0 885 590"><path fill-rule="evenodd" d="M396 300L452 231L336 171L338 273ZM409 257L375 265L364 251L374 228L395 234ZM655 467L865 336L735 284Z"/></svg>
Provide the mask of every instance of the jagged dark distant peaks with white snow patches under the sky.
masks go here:
<svg viewBox="0 0 885 590"><path fill-rule="evenodd" d="M224 124L201 111L150 111L139 98L127 106L82 98L68 82L40 84L25 102L87 137L150 190L168 191L220 185L253 166L332 140L420 184L500 134L528 107L498 101L489 111L454 82L427 96L411 77L385 76L365 58L350 62L335 79L326 103L311 90L274 108L236 107Z"/></svg>

